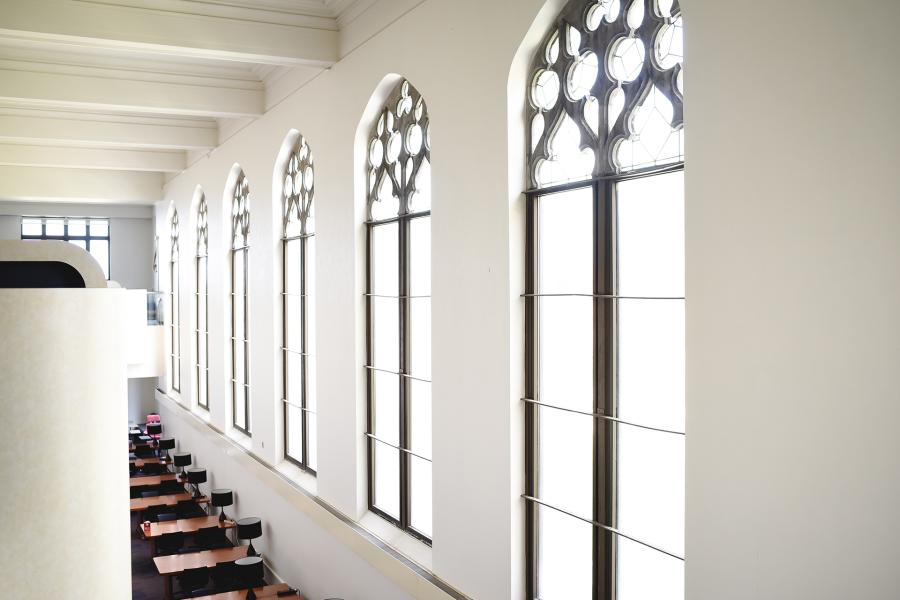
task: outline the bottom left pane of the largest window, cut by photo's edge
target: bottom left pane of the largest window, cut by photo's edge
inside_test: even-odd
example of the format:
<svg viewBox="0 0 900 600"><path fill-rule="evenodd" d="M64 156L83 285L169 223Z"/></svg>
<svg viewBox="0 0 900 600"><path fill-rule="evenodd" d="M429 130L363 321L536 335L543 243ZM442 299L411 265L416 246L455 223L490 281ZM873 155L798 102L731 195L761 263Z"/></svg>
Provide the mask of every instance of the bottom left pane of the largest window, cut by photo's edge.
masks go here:
<svg viewBox="0 0 900 600"><path fill-rule="evenodd" d="M591 600L593 525L536 505L538 590L542 600ZM647 596L642 600L656 600Z"/></svg>

